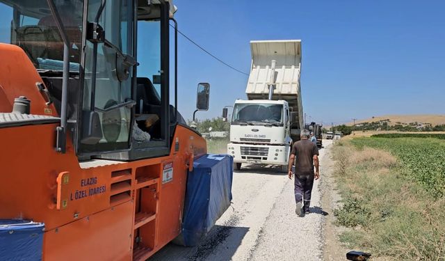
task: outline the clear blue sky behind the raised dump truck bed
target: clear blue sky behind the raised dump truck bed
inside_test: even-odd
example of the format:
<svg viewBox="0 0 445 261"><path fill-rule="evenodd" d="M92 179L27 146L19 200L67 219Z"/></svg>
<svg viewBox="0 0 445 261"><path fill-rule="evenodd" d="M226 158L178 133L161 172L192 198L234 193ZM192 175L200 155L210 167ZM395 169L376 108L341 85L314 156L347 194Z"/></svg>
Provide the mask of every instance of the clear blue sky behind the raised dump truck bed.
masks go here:
<svg viewBox="0 0 445 261"><path fill-rule="evenodd" d="M249 72L250 40L302 40L303 111L318 122L445 113L445 1L176 0L179 30ZM200 81L210 109L245 98L248 77L179 36L179 111L191 118Z"/></svg>

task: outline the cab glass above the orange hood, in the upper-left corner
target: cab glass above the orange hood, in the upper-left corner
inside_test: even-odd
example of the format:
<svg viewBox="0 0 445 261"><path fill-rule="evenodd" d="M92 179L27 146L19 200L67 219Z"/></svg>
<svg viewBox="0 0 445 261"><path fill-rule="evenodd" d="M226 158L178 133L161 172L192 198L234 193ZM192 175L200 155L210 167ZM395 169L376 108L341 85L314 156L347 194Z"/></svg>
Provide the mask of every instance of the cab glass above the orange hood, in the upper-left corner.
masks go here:
<svg viewBox="0 0 445 261"><path fill-rule="evenodd" d="M83 0L54 3L72 44L70 70L79 71ZM36 69L63 70L63 40L46 0L0 1L0 42L21 47Z"/></svg>

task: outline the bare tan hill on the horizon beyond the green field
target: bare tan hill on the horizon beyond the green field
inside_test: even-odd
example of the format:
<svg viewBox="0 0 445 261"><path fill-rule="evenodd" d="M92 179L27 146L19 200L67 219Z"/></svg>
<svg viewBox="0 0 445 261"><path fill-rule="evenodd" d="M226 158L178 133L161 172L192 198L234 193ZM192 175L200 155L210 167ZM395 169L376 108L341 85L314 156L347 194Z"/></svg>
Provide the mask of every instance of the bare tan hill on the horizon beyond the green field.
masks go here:
<svg viewBox="0 0 445 261"><path fill-rule="evenodd" d="M432 126L435 125L444 125L445 124L445 115L443 114L419 114L419 115L384 115L384 116L374 116L372 118L364 119L364 120L355 120L355 124L360 124L363 122L378 122L380 120L389 120L388 125L408 125L413 122L418 122L419 124L430 124ZM354 125L354 122L349 122L346 124L348 126Z"/></svg>

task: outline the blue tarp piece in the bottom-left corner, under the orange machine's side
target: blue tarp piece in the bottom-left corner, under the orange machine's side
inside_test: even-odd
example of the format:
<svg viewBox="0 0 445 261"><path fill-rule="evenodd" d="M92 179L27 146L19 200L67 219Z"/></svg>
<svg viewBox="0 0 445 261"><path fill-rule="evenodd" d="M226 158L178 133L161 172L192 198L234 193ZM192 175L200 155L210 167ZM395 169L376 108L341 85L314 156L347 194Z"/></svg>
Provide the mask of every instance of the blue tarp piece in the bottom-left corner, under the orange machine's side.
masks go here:
<svg viewBox="0 0 445 261"><path fill-rule="evenodd" d="M43 223L0 219L0 260L42 260Z"/></svg>

